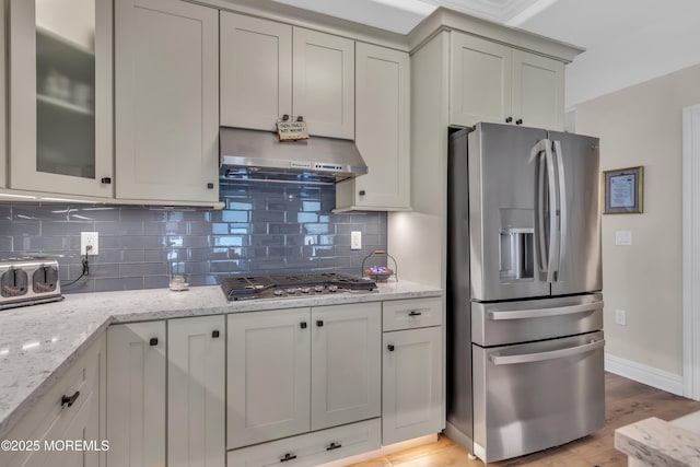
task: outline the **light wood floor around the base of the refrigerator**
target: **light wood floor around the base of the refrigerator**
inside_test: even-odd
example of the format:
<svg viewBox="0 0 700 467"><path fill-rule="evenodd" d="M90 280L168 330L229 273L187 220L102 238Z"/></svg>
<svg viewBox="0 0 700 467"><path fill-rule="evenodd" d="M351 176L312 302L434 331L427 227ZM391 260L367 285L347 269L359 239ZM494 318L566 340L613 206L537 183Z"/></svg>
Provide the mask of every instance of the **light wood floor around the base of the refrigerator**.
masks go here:
<svg viewBox="0 0 700 467"><path fill-rule="evenodd" d="M615 429L658 417L673 420L700 410L700 402L664 393L643 384L606 373L605 428L584 439L547 451L489 464L489 466L544 467L626 467L627 456L614 446ZM402 451L353 467L483 467L480 460L469 460L467 452L446 436L436 443Z"/></svg>

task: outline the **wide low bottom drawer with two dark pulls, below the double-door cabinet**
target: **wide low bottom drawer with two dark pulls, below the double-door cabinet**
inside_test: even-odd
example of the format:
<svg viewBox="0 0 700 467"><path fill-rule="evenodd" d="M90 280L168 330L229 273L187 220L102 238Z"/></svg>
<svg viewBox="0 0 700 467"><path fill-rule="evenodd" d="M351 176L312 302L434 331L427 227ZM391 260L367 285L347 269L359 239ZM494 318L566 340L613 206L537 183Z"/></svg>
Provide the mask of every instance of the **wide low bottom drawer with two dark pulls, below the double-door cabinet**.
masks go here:
<svg viewBox="0 0 700 467"><path fill-rule="evenodd" d="M381 421L372 419L229 452L237 467L316 466L381 446Z"/></svg>

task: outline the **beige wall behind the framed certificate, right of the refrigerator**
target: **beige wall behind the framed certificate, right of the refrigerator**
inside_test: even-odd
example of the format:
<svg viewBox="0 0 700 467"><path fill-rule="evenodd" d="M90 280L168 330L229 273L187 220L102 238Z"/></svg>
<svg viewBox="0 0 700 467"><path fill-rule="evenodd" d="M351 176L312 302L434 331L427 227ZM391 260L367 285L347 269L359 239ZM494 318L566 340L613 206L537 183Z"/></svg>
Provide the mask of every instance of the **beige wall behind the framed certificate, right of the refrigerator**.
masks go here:
<svg viewBox="0 0 700 467"><path fill-rule="evenodd" d="M682 373L681 110L700 104L695 66L575 107L576 132L600 138L600 170L644 166L644 213L603 215L606 351ZM615 232L632 232L616 246ZM615 324L627 312L627 326Z"/></svg>

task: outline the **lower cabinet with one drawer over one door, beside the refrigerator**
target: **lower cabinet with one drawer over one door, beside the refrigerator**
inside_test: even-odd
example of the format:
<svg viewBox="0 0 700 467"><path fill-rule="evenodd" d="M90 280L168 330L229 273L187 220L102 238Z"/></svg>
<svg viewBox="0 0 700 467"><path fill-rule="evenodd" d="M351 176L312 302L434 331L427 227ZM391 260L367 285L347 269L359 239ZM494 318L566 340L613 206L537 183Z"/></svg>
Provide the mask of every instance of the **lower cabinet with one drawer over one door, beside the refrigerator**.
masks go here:
<svg viewBox="0 0 700 467"><path fill-rule="evenodd" d="M383 313L382 444L387 445L443 429L442 300L384 302ZM397 325L402 330L395 330Z"/></svg>

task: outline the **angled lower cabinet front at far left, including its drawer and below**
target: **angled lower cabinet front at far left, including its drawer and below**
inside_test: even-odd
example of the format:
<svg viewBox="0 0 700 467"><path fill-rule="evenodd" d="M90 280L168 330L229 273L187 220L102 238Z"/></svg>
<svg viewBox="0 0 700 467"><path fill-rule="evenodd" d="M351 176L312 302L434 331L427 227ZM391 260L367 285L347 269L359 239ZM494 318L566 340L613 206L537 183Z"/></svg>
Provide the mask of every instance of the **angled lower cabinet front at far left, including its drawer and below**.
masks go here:
<svg viewBox="0 0 700 467"><path fill-rule="evenodd" d="M104 335L35 402L4 440L31 442L31 450L0 451L3 467L104 465ZM84 450L67 448L82 441Z"/></svg>

